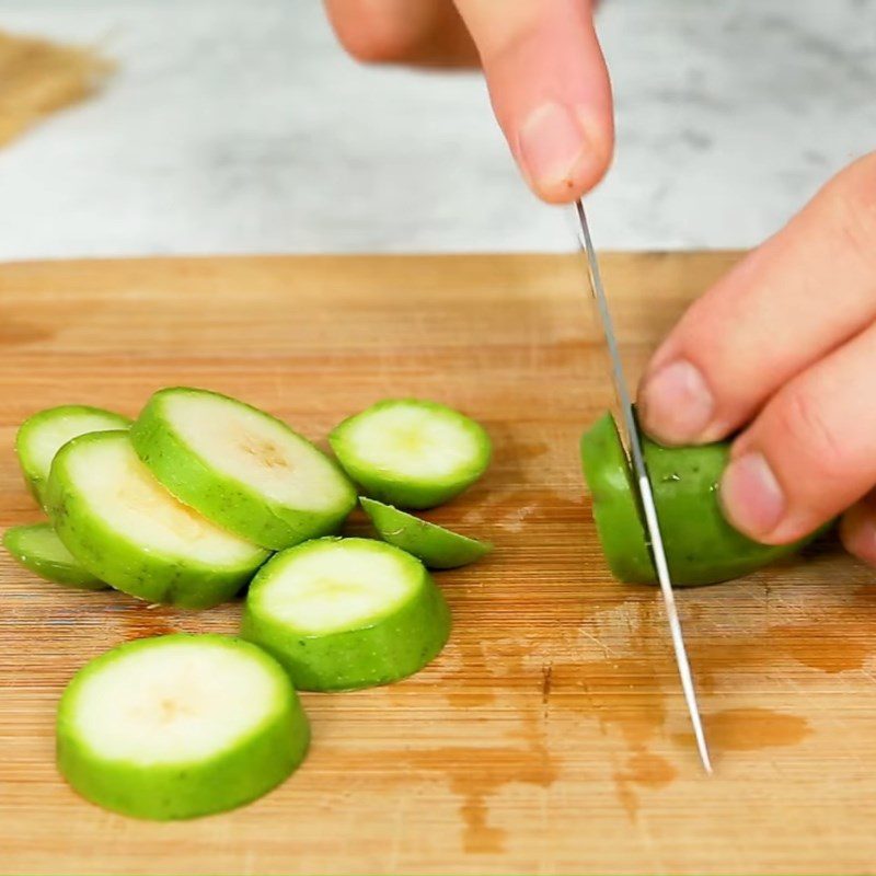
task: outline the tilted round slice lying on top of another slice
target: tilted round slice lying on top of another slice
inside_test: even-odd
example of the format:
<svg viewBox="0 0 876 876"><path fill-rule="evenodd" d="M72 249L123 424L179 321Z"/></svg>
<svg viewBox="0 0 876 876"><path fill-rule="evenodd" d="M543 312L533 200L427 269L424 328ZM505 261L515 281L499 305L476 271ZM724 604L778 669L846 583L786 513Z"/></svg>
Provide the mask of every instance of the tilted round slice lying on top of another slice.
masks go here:
<svg viewBox="0 0 876 876"><path fill-rule="evenodd" d="M356 505L347 477L310 441L224 395L161 390L131 440L180 502L263 548L283 550L337 532Z"/></svg>

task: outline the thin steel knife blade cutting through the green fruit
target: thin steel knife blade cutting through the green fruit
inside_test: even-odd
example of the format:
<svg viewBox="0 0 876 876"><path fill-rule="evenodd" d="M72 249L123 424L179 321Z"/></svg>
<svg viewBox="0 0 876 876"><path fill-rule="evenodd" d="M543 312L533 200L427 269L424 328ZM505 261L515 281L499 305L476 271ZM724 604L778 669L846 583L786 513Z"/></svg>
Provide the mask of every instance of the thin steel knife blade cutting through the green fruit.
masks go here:
<svg viewBox="0 0 876 876"><path fill-rule="evenodd" d="M703 722L700 717L700 708L696 705L696 691L693 684L691 666L688 660L688 652L684 648L684 637L681 634L681 621L679 620L678 609L676 608L676 597L672 591L672 579L669 576L669 566L666 562L666 549L664 548L664 539L660 534L660 523L657 519L657 509L654 505L654 491L652 489L648 470L645 466L645 458L642 453L642 436L638 431L638 424L636 422L635 414L633 413L630 392L626 388L626 379L624 378L623 373L623 362L621 361L621 351L618 347L616 335L614 334L614 324L609 311L606 290L602 286L602 277L599 273L599 262L596 257L593 241L590 238L590 228L587 224L587 216L584 212L584 204L581 204L580 200L575 203L575 211L578 215L578 242L580 243L581 250L587 256L587 269L590 277L590 291L592 292L596 301L599 321L602 324L602 332L606 336L606 344L609 348L614 390L618 394L618 402L621 406L622 423L620 425L622 433L625 433L625 437L627 439L630 457L633 463L633 474L635 475L634 482L637 485L638 498L642 504L641 507L645 514L645 528L647 529L648 533L648 542L652 557L654 560L654 567L657 569L657 580L660 583L660 592L662 593L664 598L666 618L669 622L669 633L672 636L672 648L676 653L676 665L678 667L679 678L681 679L681 689L684 692L684 700L688 704L691 724L693 725L693 735L696 738L696 748L700 751L700 760L702 760L705 771L711 774L712 760L708 757L708 746L705 741Z"/></svg>

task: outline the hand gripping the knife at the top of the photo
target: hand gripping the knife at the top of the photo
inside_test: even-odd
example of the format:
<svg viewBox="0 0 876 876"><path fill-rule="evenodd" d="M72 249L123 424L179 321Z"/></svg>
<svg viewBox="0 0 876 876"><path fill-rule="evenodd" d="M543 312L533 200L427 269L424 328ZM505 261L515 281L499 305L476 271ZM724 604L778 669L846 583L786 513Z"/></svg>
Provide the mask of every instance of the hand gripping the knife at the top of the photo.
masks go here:
<svg viewBox="0 0 876 876"><path fill-rule="evenodd" d="M592 0L324 2L359 60L463 66L480 56L496 118L544 200L575 200L608 170L611 85Z"/></svg>

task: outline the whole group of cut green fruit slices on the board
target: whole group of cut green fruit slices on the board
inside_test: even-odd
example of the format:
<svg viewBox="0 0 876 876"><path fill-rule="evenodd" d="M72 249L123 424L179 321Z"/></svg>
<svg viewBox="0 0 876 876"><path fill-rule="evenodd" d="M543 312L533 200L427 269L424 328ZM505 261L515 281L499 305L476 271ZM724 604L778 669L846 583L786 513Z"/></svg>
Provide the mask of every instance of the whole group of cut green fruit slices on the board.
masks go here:
<svg viewBox="0 0 876 876"><path fill-rule="evenodd" d="M400 507L434 507L477 480L486 433L404 400L350 417L330 441L338 462L262 411L184 388L155 393L135 423L65 406L21 427L16 451L49 517L7 531L22 565L184 608L249 585L240 637L140 639L77 673L58 764L84 797L155 819L254 799L306 754L296 689L384 684L440 653L450 613L426 567L491 546ZM382 541L338 537L354 482Z"/></svg>

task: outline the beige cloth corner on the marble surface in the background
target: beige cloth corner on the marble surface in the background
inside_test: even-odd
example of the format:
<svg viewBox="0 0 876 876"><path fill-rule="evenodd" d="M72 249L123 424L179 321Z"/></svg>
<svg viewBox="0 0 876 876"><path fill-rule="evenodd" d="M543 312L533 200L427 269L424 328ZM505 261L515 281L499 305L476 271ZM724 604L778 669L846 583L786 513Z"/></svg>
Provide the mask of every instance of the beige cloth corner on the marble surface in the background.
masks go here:
<svg viewBox="0 0 876 876"><path fill-rule="evenodd" d="M88 97L113 68L91 49L0 31L0 146Z"/></svg>

